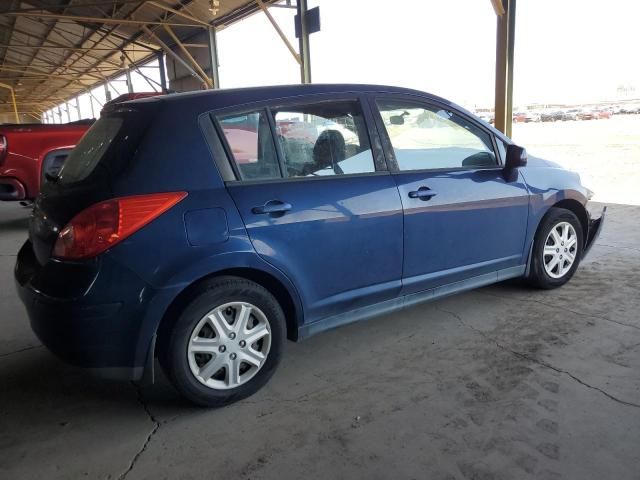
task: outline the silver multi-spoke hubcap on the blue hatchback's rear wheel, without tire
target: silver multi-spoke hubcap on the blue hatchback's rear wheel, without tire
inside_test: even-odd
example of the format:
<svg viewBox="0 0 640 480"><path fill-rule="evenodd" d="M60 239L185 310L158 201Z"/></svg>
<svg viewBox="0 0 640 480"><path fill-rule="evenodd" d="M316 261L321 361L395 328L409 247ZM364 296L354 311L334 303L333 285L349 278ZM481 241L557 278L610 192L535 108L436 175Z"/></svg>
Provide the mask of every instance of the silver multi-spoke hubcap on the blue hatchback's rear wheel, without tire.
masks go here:
<svg viewBox="0 0 640 480"><path fill-rule="evenodd" d="M255 305L231 302L207 313L191 332L189 368L202 384L216 390L251 380L271 348L271 327Z"/></svg>

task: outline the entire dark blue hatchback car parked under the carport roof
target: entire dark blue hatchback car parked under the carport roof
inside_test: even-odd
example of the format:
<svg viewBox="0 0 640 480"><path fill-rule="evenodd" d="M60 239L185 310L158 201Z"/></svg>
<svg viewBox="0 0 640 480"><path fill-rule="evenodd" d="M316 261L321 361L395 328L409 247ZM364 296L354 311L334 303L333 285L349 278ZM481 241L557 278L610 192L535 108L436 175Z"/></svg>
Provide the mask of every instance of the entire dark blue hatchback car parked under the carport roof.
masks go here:
<svg viewBox="0 0 640 480"><path fill-rule="evenodd" d="M286 338L524 277L602 227L577 174L426 93L307 85L108 108L36 200L16 285L61 358L192 402L264 385ZM603 212L604 213L604 212Z"/></svg>

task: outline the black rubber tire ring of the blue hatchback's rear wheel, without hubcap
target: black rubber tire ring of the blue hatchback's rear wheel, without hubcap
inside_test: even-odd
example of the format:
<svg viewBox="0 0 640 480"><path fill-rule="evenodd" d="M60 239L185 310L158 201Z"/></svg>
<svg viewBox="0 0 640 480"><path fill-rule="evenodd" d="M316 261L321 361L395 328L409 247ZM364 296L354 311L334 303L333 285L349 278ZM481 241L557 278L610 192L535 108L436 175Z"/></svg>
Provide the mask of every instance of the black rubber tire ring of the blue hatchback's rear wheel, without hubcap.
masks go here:
<svg viewBox="0 0 640 480"><path fill-rule="evenodd" d="M187 346L197 323L217 306L229 302L247 302L262 310L271 329L271 346L265 364L251 380L233 389L215 390L194 377L189 367ZM204 407L223 406L254 394L267 383L280 363L285 338L284 313L273 295L249 280L219 277L197 288L176 318L162 364L173 385L188 400Z"/></svg>

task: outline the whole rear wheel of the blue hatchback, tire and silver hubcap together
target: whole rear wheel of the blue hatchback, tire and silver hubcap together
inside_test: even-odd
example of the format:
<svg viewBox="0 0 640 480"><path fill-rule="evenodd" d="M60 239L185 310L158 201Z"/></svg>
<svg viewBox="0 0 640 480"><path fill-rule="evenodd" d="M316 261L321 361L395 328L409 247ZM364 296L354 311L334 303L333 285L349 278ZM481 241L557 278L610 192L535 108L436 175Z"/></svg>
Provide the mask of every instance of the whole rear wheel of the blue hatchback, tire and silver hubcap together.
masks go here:
<svg viewBox="0 0 640 480"><path fill-rule="evenodd" d="M285 337L284 313L268 290L244 278L216 277L189 296L163 342L160 362L185 398L220 407L267 383Z"/></svg>

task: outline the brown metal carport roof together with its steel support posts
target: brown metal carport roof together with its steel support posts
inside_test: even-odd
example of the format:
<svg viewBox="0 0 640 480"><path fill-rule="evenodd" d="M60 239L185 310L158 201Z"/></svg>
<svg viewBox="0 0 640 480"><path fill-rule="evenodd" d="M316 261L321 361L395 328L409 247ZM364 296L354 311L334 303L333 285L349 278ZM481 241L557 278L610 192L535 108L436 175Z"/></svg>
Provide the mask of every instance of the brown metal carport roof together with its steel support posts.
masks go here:
<svg viewBox="0 0 640 480"><path fill-rule="evenodd" d="M486 0L485 0L486 1ZM297 53L269 15L278 0L5 0L0 3L0 114L18 108L40 113L119 75L160 52L173 56L209 87L210 78L184 40L194 30L210 36L263 10L310 81L308 35L302 23ZM496 127L510 134L516 0L490 0L497 20ZM290 0L286 0L290 5ZM298 0L299 14L306 0ZM394 6L396 6L394 4ZM215 43L210 41L210 51ZM306 43L305 43L306 42ZM180 55L172 51L177 46ZM193 46L193 45L191 45ZM198 45L202 46L202 45ZM214 54L211 64L214 65ZM16 114L17 116L17 114Z"/></svg>

